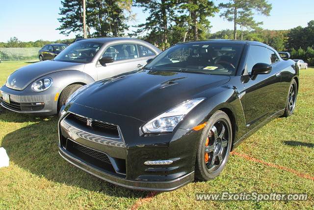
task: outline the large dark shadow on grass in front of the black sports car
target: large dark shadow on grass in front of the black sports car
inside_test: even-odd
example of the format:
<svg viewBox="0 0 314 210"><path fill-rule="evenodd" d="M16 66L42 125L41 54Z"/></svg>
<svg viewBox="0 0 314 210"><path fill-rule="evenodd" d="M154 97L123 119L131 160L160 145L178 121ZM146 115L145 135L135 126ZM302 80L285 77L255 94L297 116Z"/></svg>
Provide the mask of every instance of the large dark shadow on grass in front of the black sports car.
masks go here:
<svg viewBox="0 0 314 210"><path fill-rule="evenodd" d="M38 177L109 196L141 198L149 194L110 184L65 161L58 153L57 121L57 117L41 120L4 136L2 147L10 161Z"/></svg>

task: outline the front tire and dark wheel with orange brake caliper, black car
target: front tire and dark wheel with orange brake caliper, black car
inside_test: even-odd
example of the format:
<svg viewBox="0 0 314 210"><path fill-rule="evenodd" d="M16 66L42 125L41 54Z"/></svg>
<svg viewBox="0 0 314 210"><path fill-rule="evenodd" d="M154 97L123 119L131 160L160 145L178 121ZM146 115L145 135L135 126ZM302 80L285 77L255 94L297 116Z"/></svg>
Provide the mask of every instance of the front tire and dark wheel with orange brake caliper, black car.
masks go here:
<svg viewBox="0 0 314 210"><path fill-rule="evenodd" d="M224 132L223 127L225 128ZM195 178L213 180L219 176L228 161L231 145L231 121L226 113L218 110L209 118L199 140ZM208 152L205 152L205 149Z"/></svg>

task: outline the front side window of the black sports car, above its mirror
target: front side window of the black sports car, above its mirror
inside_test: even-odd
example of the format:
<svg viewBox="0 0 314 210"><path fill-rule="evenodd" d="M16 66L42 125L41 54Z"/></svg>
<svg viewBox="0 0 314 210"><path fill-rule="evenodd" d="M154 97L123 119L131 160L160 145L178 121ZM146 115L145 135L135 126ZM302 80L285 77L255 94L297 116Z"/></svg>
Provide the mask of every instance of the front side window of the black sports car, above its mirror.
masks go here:
<svg viewBox="0 0 314 210"><path fill-rule="evenodd" d="M251 45L246 61L248 73L251 73L252 68L256 63L271 64L270 56L267 48L258 45Z"/></svg>

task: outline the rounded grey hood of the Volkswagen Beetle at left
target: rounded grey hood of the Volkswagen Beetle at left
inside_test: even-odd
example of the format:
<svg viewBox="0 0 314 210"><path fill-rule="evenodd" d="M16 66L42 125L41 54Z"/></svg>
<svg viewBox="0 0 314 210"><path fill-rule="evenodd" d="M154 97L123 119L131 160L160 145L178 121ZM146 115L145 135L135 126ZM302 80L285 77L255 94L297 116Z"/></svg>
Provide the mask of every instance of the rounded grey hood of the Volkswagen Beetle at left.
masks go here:
<svg viewBox="0 0 314 210"><path fill-rule="evenodd" d="M30 83L42 76L62 70L83 70L84 65L84 63L78 64L53 60L36 62L13 72L5 86L13 90L24 90Z"/></svg>

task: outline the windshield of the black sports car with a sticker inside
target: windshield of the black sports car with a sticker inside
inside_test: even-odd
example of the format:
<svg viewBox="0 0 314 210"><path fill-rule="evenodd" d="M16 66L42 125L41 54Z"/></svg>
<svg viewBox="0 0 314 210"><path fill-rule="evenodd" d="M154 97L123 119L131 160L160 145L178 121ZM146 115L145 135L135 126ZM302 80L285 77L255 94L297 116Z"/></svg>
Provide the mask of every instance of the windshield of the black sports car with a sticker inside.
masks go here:
<svg viewBox="0 0 314 210"><path fill-rule="evenodd" d="M234 75L243 45L229 43L185 43L173 46L148 63L152 70L186 71Z"/></svg>

